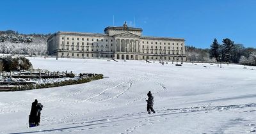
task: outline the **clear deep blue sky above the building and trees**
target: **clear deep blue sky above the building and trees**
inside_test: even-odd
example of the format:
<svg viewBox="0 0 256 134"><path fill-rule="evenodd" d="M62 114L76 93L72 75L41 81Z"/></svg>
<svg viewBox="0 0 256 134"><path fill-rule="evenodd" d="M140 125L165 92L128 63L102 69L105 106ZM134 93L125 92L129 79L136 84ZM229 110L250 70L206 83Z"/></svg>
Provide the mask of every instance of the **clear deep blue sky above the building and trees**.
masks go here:
<svg viewBox="0 0 256 134"><path fill-rule="evenodd" d="M129 26L145 36L184 38L186 45L209 48L214 38L230 38L256 47L255 0L3 0L0 31L103 33L104 28Z"/></svg>

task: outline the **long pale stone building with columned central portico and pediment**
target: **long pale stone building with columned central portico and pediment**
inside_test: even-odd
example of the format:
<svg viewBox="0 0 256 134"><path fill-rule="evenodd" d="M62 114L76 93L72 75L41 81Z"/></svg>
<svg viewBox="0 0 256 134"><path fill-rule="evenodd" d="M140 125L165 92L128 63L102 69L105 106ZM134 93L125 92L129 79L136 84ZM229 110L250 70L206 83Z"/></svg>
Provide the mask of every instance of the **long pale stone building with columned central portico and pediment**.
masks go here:
<svg viewBox="0 0 256 134"><path fill-rule="evenodd" d="M48 54L70 58L186 60L183 38L143 36L141 28L106 27L104 34L62 32L48 40Z"/></svg>

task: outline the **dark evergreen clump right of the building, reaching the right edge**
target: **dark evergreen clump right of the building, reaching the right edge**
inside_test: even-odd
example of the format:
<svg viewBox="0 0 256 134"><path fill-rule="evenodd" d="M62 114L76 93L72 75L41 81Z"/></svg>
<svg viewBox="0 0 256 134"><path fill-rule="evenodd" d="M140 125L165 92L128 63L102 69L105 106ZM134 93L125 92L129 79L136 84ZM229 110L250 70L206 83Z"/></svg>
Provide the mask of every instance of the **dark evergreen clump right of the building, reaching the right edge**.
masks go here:
<svg viewBox="0 0 256 134"><path fill-rule="evenodd" d="M256 49L244 48L243 44L236 44L234 41L225 38L222 44L216 38L212 42L209 56L216 62L240 63L256 65Z"/></svg>

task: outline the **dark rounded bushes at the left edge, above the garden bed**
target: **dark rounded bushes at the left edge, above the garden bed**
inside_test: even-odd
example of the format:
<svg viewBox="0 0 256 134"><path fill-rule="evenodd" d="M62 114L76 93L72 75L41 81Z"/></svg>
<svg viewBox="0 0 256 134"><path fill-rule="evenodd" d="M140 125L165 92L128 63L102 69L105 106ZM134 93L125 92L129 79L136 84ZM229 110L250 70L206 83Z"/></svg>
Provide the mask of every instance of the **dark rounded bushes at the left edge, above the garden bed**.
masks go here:
<svg viewBox="0 0 256 134"><path fill-rule="evenodd" d="M32 64L26 57L1 57L0 58L0 71L19 71L29 70Z"/></svg>

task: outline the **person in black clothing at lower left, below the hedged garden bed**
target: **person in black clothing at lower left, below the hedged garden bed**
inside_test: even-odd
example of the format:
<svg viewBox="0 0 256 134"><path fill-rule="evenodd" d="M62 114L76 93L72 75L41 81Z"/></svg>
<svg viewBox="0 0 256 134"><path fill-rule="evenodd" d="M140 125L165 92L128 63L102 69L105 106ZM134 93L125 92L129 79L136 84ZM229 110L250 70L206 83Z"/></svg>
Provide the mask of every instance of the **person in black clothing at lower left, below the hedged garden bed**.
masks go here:
<svg viewBox="0 0 256 134"><path fill-rule="evenodd" d="M40 115L43 105L35 100L32 103L31 111L29 115L29 127L38 126L40 123Z"/></svg>

